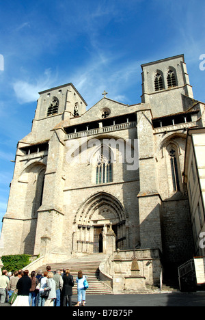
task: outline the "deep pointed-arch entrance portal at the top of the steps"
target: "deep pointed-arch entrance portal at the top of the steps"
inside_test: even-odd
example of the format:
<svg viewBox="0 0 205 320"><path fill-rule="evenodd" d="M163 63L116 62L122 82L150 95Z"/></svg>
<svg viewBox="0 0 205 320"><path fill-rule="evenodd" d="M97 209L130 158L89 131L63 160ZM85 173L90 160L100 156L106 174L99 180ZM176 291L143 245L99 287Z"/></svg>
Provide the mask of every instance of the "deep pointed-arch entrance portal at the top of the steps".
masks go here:
<svg viewBox="0 0 205 320"><path fill-rule="evenodd" d="M120 201L105 192L94 194L80 206L74 219L72 251L106 253L128 247L126 215Z"/></svg>

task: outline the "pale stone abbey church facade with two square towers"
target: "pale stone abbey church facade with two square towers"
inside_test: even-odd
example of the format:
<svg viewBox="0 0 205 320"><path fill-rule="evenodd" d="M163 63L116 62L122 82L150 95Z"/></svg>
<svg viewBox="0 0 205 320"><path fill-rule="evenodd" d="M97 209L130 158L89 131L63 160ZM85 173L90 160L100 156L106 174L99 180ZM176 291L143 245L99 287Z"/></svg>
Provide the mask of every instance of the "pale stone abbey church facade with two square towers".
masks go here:
<svg viewBox="0 0 205 320"><path fill-rule="evenodd" d="M183 55L141 68L136 105L105 92L87 109L72 83L40 92L16 150L1 255L52 262L157 250L166 271L196 253L184 155L187 131L205 124L204 103Z"/></svg>

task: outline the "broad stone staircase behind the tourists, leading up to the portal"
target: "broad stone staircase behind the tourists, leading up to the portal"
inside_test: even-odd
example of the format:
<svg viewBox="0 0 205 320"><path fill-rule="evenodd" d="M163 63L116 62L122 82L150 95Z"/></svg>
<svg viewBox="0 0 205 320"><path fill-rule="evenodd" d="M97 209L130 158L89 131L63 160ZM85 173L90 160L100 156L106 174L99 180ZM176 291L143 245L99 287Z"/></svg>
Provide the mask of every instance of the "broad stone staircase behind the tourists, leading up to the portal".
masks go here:
<svg viewBox="0 0 205 320"><path fill-rule="evenodd" d="M57 269L68 268L70 269L70 274L72 274L74 279L74 287L72 288L72 294L77 295L77 283L76 278L79 270L83 271L83 275L87 276L87 282L89 284L89 288L86 291L86 295L108 295L112 293L112 289L103 284L99 277L99 265L102 262L104 256L79 256L78 258L72 258L70 261L66 261L64 263L48 263L46 265L42 265L42 267L38 268L42 270L42 272L46 271L46 266L51 266L51 271L55 271Z"/></svg>

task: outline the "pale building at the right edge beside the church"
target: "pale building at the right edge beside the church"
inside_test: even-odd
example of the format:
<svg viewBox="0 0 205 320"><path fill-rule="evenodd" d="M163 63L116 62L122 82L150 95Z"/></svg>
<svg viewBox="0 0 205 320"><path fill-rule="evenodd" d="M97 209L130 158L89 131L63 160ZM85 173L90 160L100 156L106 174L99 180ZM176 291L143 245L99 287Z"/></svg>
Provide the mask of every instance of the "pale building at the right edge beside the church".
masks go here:
<svg viewBox="0 0 205 320"><path fill-rule="evenodd" d="M187 183L193 241L197 256L205 255L205 128L187 132L184 181Z"/></svg>

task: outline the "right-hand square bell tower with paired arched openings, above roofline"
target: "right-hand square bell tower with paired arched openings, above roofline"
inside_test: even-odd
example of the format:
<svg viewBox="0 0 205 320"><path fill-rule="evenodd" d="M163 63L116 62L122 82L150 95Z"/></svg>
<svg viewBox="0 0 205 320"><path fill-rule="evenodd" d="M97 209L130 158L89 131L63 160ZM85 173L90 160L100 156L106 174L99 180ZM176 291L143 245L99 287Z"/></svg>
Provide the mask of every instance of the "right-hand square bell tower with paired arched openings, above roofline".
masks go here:
<svg viewBox="0 0 205 320"><path fill-rule="evenodd" d="M184 55L142 64L141 102L148 103L154 118L186 111L183 97L193 98Z"/></svg>

